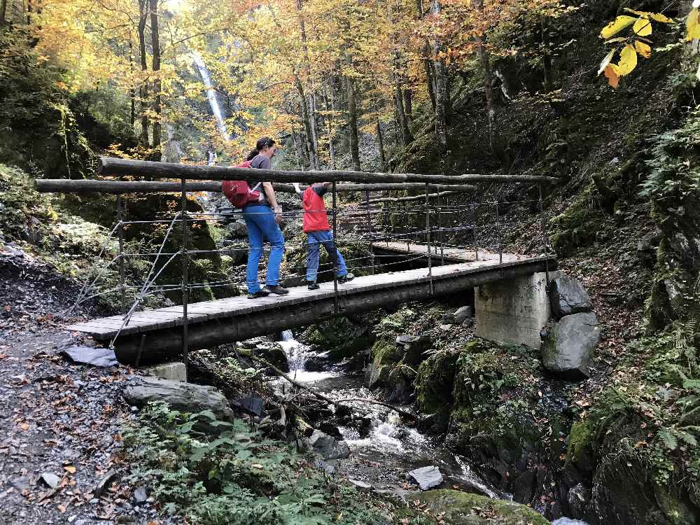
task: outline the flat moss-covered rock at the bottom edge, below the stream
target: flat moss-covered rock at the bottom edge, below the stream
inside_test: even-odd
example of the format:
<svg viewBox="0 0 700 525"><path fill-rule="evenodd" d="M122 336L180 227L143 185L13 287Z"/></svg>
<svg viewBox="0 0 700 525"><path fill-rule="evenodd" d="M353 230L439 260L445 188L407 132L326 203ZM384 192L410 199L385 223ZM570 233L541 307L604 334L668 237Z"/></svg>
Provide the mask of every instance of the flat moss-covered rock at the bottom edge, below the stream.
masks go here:
<svg viewBox="0 0 700 525"><path fill-rule="evenodd" d="M447 525L547 525L542 514L513 501L450 489L427 491L411 497L440 515Z"/></svg>

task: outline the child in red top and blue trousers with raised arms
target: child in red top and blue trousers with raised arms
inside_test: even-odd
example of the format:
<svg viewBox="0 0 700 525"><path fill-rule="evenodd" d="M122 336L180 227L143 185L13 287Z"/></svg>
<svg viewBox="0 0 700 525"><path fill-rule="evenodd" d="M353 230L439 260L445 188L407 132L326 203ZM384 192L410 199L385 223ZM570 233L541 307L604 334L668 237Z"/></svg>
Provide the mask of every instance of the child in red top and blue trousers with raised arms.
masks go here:
<svg viewBox="0 0 700 525"><path fill-rule="evenodd" d="M309 244L307 248L307 284L309 290L318 289L316 275L318 274L318 251L321 244L328 251L333 266L337 268L338 283L342 284L355 279L353 274L348 273L345 260L335 246L335 237L333 237L333 232L328 224L328 213L325 211L323 195L331 186L330 182L312 183L302 192L299 184L294 183L294 189L302 198L304 205L303 230Z"/></svg>

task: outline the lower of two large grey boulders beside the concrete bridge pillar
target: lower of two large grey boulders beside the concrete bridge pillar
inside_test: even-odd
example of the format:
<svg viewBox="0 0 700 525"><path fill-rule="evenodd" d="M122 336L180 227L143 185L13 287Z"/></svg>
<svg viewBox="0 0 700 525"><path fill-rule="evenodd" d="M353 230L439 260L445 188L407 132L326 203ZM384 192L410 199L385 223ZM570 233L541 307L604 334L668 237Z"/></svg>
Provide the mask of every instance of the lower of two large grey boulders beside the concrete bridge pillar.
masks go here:
<svg viewBox="0 0 700 525"><path fill-rule="evenodd" d="M586 379L593 350L601 340L598 317L592 311L561 318L542 344L542 365L566 379Z"/></svg>

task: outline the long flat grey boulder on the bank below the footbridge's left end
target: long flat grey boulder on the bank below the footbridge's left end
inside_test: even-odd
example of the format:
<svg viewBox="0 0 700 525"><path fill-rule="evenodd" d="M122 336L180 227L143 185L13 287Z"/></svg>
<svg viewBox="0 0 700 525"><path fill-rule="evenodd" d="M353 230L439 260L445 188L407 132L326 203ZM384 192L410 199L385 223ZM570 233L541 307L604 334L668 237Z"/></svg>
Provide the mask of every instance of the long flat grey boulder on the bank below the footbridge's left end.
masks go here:
<svg viewBox="0 0 700 525"><path fill-rule="evenodd" d="M183 412L211 410L219 419L233 420L233 411L223 393L214 386L170 381L159 377L134 379L124 388L124 399L130 405L142 407L151 401L165 401Z"/></svg>

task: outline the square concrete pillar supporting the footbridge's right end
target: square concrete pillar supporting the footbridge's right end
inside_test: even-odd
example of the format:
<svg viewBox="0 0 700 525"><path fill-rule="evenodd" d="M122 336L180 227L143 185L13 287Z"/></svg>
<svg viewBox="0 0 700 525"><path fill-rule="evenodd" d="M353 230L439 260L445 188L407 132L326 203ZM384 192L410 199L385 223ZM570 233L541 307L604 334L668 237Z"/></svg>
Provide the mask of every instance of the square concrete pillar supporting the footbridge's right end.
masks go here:
<svg viewBox="0 0 700 525"><path fill-rule="evenodd" d="M540 330L551 316L546 275L541 272L477 286L477 337L539 349ZM559 272L549 272L549 281L557 276Z"/></svg>

